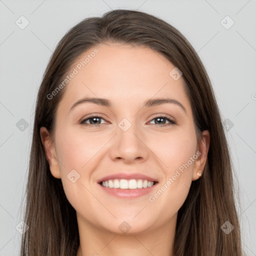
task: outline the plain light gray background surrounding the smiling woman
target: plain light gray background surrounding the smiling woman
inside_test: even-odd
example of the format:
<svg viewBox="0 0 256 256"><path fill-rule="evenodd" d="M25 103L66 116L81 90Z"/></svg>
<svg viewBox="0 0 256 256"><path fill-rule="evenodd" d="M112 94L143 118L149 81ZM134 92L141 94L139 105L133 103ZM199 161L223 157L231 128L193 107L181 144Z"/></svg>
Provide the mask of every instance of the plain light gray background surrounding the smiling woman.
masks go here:
<svg viewBox="0 0 256 256"><path fill-rule="evenodd" d="M255 0L0 0L0 256L19 253L21 234L15 227L22 220L35 97L50 55L81 19L116 8L163 18L202 59L228 124L242 245L246 255L256 255ZM29 21L24 29L15 23L21 15ZM228 29L232 21L226 15L234 21Z"/></svg>

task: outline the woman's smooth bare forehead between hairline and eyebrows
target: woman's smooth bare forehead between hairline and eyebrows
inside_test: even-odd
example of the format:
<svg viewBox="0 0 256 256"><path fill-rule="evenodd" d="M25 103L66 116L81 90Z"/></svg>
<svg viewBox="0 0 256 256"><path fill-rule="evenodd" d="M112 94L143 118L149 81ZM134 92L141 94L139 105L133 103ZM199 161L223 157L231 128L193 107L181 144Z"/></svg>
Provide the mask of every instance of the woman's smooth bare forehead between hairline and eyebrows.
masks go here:
<svg viewBox="0 0 256 256"><path fill-rule="evenodd" d="M65 107L85 96L108 98L116 107L166 96L188 103L182 76L174 80L169 74L175 66L146 46L94 46L74 61L71 71L73 68L76 74L61 100Z"/></svg>

